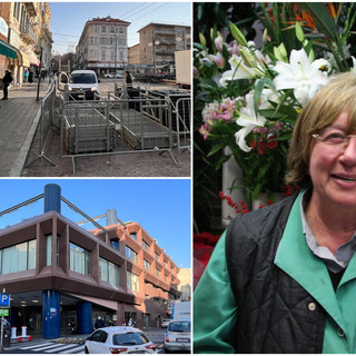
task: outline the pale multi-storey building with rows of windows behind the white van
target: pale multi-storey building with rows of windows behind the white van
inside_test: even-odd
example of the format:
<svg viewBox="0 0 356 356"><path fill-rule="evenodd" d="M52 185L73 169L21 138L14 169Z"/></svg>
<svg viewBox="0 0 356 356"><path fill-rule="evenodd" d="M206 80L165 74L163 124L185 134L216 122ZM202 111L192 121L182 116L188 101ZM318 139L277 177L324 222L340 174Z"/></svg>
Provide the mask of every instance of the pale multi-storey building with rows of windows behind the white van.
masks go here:
<svg viewBox="0 0 356 356"><path fill-rule="evenodd" d="M76 49L77 66L99 76L116 73L128 63L127 29L130 22L95 18L86 22Z"/></svg>

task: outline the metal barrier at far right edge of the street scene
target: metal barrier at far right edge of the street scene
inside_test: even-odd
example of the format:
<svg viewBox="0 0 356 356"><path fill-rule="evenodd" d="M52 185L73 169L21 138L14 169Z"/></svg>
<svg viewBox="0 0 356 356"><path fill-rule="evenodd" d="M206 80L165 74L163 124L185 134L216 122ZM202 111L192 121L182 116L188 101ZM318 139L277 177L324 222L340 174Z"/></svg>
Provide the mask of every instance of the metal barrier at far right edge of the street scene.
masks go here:
<svg viewBox="0 0 356 356"><path fill-rule="evenodd" d="M191 147L191 99L178 99L174 112L176 113L177 146L179 157L181 150L190 150Z"/></svg>

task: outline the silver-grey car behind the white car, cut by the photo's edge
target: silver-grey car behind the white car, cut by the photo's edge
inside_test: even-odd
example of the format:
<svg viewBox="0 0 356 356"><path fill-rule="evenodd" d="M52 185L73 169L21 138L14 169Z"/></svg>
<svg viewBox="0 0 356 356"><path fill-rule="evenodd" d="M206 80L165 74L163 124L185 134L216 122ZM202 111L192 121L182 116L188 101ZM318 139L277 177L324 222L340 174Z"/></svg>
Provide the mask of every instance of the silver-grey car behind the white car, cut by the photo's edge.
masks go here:
<svg viewBox="0 0 356 356"><path fill-rule="evenodd" d="M190 320L170 320L165 334L165 353L187 352L191 348Z"/></svg>

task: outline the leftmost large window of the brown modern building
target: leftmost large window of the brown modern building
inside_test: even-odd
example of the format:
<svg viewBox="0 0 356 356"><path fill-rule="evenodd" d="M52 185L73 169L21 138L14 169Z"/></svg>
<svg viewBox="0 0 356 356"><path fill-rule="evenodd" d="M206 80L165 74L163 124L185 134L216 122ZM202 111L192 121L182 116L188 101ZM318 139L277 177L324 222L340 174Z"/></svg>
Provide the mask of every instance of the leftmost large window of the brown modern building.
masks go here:
<svg viewBox="0 0 356 356"><path fill-rule="evenodd" d="M36 267L36 240L6 247L0 250L1 275Z"/></svg>

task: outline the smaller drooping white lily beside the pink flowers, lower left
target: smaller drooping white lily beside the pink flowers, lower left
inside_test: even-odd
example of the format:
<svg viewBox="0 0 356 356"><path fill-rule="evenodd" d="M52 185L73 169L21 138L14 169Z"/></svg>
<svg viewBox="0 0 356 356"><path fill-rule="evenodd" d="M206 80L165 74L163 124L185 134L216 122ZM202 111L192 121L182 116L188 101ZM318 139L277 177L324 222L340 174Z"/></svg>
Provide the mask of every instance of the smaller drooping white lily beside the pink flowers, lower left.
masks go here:
<svg viewBox="0 0 356 356"><path fill-rule="evenodd" d="M266 118L264 118L258 112L255 112L254 93L249 92L246 96L246 107L240 109L240 116L236 120L236 123L243 127L235 134L236 144L243 151L249 152L251 150L251 148L247 146L245 141L247 135L251 132L254 128L265 126L266 121Z"/></svg>

